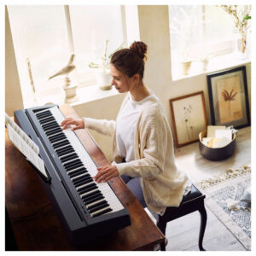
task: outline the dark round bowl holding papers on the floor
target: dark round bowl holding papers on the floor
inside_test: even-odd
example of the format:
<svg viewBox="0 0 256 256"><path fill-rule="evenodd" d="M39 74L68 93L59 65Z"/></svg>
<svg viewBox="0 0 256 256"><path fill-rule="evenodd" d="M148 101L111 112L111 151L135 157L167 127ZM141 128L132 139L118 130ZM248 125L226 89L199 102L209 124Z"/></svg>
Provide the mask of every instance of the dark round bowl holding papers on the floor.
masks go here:
<svg viewBox="0 0 256 256"><path fill-rule="evenodd" d="M201 143L202 138L207 137L207 131L202 131L199 134L199 148L202 156L207 160L224 160L234 154L236 149L236 134L233 134L233 140L230 144L223 148L209 148L205 144Z"/></svg>

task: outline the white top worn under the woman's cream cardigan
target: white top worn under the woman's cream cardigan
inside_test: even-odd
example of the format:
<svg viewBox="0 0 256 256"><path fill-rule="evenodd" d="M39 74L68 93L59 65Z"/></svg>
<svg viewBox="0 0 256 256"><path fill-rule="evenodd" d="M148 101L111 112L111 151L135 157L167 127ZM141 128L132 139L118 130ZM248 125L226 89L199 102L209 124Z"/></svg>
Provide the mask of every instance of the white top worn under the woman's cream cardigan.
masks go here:
<svg viewBox="0 0 256 256"><path fill-rule="evenodd" d="M116 119L116 141L117 153L122 156L126 162L135 160L134 154L134 134L136 131L137 119L146 106L148 100L153 95L145 97L142 101L134 101L129 93L128 100L119 112Z"/></svg>

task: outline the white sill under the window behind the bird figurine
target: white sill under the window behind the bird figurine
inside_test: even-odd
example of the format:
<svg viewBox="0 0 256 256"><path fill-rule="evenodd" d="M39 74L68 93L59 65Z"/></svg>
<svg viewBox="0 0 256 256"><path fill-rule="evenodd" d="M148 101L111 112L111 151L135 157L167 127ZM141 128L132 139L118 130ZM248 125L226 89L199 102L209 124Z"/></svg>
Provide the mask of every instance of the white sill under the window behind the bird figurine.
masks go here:
<svg viewBox="0 0 256 256"><path fill-rule="evenodd" d="M101 100L110 96L118 95L119 92L113 87L111 90L101 90L96 84L85 86L77 89L78 100L76 102L69 103L71 106L77 106L86 102L93 102ZM41 96L37 99L38 106L45 104L55 103L58 105L65 104L65 93L63 90L50 94L47 96Z"/></svg>

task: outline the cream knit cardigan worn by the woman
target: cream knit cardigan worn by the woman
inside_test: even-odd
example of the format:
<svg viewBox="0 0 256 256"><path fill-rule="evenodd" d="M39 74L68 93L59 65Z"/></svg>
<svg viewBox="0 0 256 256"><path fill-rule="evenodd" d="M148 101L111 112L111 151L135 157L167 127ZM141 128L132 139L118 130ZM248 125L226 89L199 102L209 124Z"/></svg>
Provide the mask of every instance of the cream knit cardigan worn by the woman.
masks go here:
<svg viewBox="0 0 256 256"><path fill-rule="evenodd" d="M125 105L125 96L121 108ZM152 97L137 120L135 131L135 160L123 163L117 155L115 121L84 118L86 128L113 137L113 164L119 174L140 177L148 208L163 215L166 207L178 207L191 187L188 177L175 166L172 131L164 108Z"/></svg>

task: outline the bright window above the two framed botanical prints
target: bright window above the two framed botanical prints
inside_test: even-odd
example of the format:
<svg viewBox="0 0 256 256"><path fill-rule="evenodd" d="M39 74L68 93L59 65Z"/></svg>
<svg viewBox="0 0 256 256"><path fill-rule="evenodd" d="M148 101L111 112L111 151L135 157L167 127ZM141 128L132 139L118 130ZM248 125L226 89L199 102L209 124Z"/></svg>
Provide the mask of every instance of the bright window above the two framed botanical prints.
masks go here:
<svg viewBox="0 0 256 256"><path fill-rule="evenodd" d="M230 54L240 38L231 15L213 5L169 6L172 76L183 61Z"/></svg>

